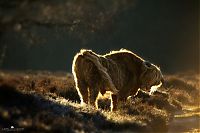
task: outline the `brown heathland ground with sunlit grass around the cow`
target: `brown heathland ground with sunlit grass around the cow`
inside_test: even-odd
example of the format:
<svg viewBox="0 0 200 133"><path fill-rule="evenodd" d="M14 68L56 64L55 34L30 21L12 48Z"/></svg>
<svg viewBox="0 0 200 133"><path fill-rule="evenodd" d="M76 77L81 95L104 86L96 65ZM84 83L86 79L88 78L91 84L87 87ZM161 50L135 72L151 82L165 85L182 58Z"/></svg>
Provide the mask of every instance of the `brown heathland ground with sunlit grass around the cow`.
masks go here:
<svg viewBox="0 0 200 133"><path fill-rule="evenodd" d="M64 72L0 71L0 132L200 132L200 75L165 75L152 96L139 91L116 112L80 106L73 76Z"/></svg>

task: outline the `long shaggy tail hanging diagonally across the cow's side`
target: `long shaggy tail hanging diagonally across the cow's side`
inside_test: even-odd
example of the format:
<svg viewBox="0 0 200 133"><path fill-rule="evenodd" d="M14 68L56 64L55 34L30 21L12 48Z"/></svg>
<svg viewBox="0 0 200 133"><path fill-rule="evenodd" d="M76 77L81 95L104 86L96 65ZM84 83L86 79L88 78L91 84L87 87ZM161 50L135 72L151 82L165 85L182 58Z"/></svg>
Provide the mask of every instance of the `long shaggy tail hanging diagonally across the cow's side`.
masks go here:
<svg viewBox="0 0 200 133"><path fill-rule="evenodd" d="M91 62L94 63L94 65L99 70L102 78L104 79L104 81L108 85L110 91L113 94L117 94L118 90L116 89L115 85L113 84L112 79L111 79L110 75L107 72L107 69L100 63L100 58L98 57L98 55L95 54L94 52L92 52L91 50L81 50L81 55L85 59L88 59L88 60L90 60Z"/></svg>

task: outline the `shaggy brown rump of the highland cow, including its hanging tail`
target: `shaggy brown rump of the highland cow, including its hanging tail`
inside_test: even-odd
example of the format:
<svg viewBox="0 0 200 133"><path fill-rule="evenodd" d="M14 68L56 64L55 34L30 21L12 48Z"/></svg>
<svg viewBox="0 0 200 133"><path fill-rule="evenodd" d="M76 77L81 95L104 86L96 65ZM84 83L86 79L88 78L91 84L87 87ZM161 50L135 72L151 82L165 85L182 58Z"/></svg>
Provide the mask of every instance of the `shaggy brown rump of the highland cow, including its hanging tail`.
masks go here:
<svg viewBox="0 0 200 133"><path fill-rule="evenodd" d="M100 58L100 55L90 50L81 50L73 61L75 81L82 82L90 88L106 89L116 94L118 91Z"/></svg>

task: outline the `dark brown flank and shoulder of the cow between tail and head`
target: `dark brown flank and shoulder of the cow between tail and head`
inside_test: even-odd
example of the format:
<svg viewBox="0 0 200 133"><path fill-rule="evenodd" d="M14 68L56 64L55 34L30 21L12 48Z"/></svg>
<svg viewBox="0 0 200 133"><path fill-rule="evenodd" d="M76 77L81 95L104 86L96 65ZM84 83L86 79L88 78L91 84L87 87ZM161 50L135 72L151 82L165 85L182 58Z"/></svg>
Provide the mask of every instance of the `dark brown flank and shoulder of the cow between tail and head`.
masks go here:
<svg viewBox="0 0 200 133"><path fill-rule="evenodd" d="M114 65L111 64L111 68L109 69L108 65L107 69L121 96L128 95L131 89L137 89L137 79L143 62L142 58L129 51L114 52L104 57L114 62L115 66L117 66L113 68Z"/></svg>

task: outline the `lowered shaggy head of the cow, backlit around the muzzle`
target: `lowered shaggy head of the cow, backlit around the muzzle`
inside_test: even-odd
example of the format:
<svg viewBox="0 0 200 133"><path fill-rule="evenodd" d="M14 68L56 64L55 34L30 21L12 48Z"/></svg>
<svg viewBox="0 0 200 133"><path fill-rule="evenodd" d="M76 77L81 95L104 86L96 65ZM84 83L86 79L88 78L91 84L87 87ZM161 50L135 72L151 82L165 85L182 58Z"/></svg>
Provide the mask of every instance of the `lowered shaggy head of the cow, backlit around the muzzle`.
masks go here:
<svg viewBox="0 0 200 133"><path fill-rule="evenodd" d="M160 68L157 67L156 65L148 61L144 61L141 70L142 70L140 75L141 89L152 92L155 91L155 89L152 90L153 86L157 86L154 88L158 88L164 82Z"/></svg>

